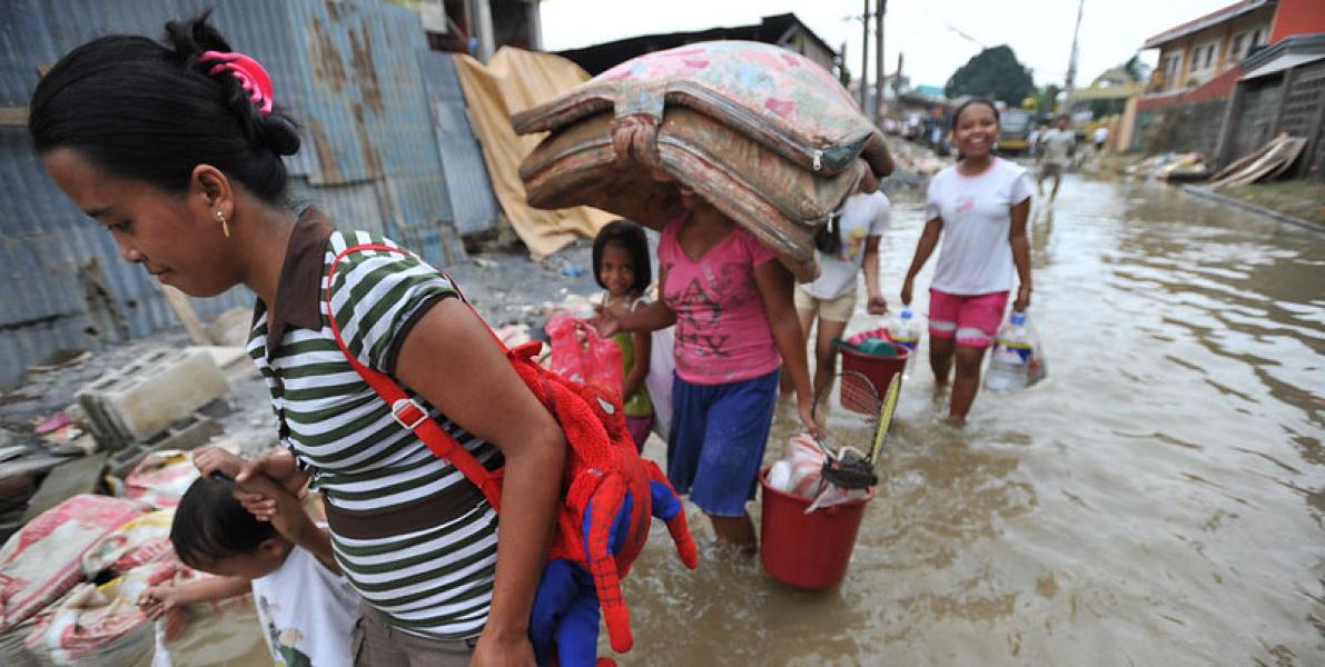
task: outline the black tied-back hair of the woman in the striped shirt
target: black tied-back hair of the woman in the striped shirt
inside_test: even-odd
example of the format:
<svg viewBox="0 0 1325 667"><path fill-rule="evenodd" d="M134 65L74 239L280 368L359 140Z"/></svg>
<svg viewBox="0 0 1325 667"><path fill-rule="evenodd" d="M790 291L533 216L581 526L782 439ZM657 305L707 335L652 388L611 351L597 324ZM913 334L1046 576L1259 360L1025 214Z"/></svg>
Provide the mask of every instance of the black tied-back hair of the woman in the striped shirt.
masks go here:
<svg viewBox="0 0 1325 667"><path fill-rule="evenodd" d="M211 164L270 205L285 205L282 155L299 150L280 107L262 115L229 73L208 74L204 52L231 45L211 12L166 24L163 42L140 36L95 38L41 78L28 116L38 154L77 152L111 176L179 195L193 168ZM280 95L281 90L276 90Z"/></svg>

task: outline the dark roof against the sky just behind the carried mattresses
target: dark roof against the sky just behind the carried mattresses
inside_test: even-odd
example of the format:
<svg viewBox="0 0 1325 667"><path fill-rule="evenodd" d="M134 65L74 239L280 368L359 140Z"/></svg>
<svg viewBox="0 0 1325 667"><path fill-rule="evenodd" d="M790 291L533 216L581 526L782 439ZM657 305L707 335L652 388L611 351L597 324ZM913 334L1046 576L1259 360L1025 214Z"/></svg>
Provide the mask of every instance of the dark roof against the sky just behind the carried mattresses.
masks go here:
<svg viewBox="0 0 1325 667"><path fill-rule="evenodd" d="M712 40L749 40L765 44L775 44L779 38L787 34L792 28L799 26L804 30L804 34L810 36L811 40L818 42L824 50L836 54L836 49L828 45L815 34L794 13L765 16L758 24L754 25L737 25L733 28L710 28L708 30L697 32L674 32L662 34L643 34L640 37L627 37L624 40L617 40L606 44L595 44L592 46L584 46L582 49L568 49L558 52L556 54L574 61L584 71L592 75L602 74L621 62L625 62L636 56L643 56L645 53L652 53L656 50L670 49L674 46L681 46L685 44L694 44L700 41Z"/></svg>

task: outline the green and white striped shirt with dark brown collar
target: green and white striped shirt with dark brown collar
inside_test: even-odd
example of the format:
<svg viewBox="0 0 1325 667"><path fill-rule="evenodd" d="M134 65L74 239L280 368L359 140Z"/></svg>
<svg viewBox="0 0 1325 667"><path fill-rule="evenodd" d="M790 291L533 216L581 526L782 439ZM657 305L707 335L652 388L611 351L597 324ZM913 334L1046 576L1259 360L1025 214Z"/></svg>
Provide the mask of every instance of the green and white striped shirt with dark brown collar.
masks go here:
<svg viewBox="0 0 1325 667"><path fill-rule="evenodd" d="M321 238L326 241L318 253ZM248 352L272 392L273 409L284 423L284 445L311 470L326 503L348 512L390 512L469 482L391 417L387 404L337 347L327 318L335 318L359 361L391 373L415 318L456 290L411 254L368 250L341 261L329 312L323 290L331 259L358 244L395 245L362 232L333 232L313 209L301 216L282 269L277 308L303 310L306 322L301 323L297 312L272 316L260 303ZM309 277L319 269L315 295L309 294L311 278L294 278L301 266ZM307 299L317 299L315 316ZM268 340L272 319L284 319L281 341L274 347ZM444 371L445 360L437 365ZM419 401L478 461L500 465L494 446L465 433L421 397ZM497 561L497 513L485 500L440 525L387 537L351 539L333 529L333 547L346 577L390 625L437 638L474 637L482 630Z"/></svg>

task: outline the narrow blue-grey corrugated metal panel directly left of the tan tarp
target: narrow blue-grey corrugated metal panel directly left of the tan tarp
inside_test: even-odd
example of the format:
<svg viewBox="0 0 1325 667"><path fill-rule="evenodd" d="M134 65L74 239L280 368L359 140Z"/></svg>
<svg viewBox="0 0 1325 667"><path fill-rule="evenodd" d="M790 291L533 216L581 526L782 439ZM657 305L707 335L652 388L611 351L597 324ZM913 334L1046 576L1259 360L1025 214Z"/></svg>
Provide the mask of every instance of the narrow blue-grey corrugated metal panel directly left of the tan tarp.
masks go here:
<svg viewBox="0 0 1325 667"><path fill-rule="evenodd" d="M465 91L449 53L420 52L424 90L432 110L437 155L447 172L447 193L461 234L497 228L501 212L482 148L465 112Z"/></svg>

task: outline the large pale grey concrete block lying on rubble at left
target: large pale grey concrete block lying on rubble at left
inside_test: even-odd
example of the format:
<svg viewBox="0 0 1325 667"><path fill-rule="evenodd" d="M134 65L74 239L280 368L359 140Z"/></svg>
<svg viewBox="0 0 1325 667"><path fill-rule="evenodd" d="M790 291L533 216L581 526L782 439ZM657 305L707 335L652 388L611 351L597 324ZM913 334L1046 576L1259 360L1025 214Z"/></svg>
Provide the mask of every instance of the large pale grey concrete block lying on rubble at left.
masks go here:
<svg viewBox="0 0 1325 667"><path fill-rule="evenodd" d="M76 394L93 435L107 447L143 441L229 390L203 349L158 349Z"/></svg>

